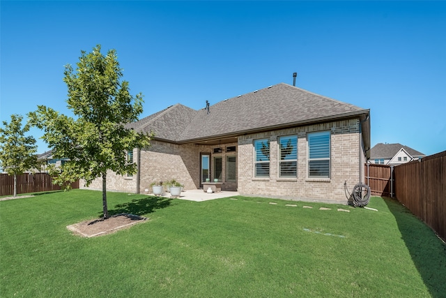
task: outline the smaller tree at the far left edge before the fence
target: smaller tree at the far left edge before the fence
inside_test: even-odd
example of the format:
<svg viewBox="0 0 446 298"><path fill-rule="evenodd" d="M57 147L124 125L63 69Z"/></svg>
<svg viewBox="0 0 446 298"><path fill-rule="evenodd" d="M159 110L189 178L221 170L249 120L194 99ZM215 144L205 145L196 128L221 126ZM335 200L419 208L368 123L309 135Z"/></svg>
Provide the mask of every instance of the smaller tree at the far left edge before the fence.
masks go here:
<svg viewBox="0 0 446 298"><path fill-rule="evenodd" d="M0 161L8 174L14 175L14 196L17 196L17 175L26 170L38 167L36 139L25 136L29 125L22 128L23 117L18 114L11 115L11 121L3 121L4 128L0 127Z"/></svg>

